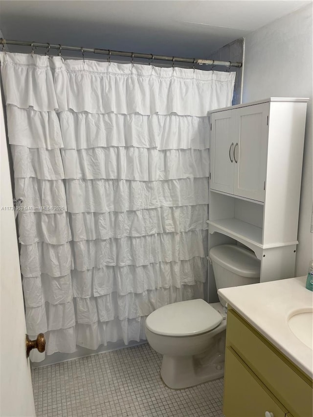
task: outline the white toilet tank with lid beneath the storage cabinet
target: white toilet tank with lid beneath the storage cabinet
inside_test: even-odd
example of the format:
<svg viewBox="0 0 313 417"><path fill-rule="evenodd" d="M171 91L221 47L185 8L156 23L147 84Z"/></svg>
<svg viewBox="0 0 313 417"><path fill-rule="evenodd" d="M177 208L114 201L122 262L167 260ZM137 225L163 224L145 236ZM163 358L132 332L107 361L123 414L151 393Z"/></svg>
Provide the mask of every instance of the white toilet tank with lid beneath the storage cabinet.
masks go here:
<svg viewBox="0 0 313 417"><path fill-rule="evenodd" d="M261 261L255 254L241 246L220 245L210 249L217 289L260 282ZM220 302L226 302L219 296Z"/></svg>

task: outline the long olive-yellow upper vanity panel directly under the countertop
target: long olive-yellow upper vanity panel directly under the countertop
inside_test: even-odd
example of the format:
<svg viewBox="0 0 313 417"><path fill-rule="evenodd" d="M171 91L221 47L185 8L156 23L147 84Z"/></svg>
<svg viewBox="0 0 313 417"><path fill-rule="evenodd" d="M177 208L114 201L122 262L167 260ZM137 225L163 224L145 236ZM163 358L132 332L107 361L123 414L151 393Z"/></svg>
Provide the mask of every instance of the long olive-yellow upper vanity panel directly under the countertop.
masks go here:
<svg viewBox="0 0 313 417"><path fill-rule="evenodd" d="M312 381L232 309L227 313L226 346L240 355L294 417L312 417Z"/></svg>

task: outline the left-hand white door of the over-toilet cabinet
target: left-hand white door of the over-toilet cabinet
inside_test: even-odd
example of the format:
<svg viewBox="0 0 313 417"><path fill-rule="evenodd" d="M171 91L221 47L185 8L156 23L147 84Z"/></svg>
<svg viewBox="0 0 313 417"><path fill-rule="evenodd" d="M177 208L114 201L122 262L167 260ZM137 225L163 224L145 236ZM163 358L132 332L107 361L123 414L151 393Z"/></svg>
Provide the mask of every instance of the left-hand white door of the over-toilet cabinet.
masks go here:
<svg viewBox="0 0 313 417"><path fill-rule="evenodd" d="M233 193L234 184L232 111L211 114L210 187L212 190L229 194Z"/></svg>

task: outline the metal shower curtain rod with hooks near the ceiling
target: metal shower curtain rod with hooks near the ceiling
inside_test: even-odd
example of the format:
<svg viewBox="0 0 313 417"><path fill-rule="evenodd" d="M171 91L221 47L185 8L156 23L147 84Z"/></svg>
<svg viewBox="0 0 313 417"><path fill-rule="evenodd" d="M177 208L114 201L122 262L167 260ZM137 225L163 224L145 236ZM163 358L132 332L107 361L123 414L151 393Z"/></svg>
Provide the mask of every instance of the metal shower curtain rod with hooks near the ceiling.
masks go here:
<svg viewBox="0 0 313 417"><path fill-rule="evenodd" d="M212 59L195 59L195 58L180 58L180 57L170 57L165 55L154 55L154 54L142 54L142 53L134 53L134 52L122 52L122 51L112 51L111 49L99 49L99 48L83 48L80 46L63 46L61 44L49 44L49 43L39 43L39 42L23 42L23 41L13 41L13 40L7 40L0 38L0 44L3 46L8 45L19 45L19 46L30 46L32 50L34 51L34 48L46 48L47 52L49 49L58 49L59 55L61 55L62 50L67 51L76 51L81 52L84 54L84 52L91 52L94 54L102 54L102 55L109 55L110 57L113 56L122 56L122 57L129 57L132 58L143 58L143 59L151 59L153 60L159 60L159 61L172 61L173 65L175 62L186 62L189 64L199 64L199 65L213 65L213 66L235 66L237 68L240 68L242 66L241 62L231 62L231 61L217 61Z"/></svg>

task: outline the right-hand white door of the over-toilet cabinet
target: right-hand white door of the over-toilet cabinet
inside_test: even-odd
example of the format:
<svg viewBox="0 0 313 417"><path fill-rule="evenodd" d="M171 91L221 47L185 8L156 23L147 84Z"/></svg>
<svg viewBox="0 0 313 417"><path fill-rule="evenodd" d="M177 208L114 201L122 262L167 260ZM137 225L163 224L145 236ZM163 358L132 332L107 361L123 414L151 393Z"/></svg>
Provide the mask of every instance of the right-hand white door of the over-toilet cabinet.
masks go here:
<svg viewBox="0 0 313 417"><path fill-rule="evenodd" d="M234 194L264 201L269 104L235 109Z"/></svg>

